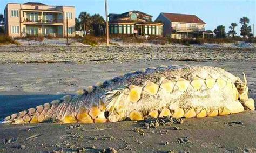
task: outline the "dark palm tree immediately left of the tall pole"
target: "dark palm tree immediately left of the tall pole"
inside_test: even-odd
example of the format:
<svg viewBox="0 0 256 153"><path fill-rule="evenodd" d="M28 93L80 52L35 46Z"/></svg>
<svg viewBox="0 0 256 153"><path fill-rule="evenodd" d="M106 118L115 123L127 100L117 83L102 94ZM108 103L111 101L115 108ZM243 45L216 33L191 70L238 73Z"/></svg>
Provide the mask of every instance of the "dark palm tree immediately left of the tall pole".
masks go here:
<svg viewBox="0 0 256 153"><path fill-rule="evenodd" d="M104 25L104 18L99 14L95 14L91 16L91 22L95 35L100 35L100 31L103 29L102 26Z"/></svg>

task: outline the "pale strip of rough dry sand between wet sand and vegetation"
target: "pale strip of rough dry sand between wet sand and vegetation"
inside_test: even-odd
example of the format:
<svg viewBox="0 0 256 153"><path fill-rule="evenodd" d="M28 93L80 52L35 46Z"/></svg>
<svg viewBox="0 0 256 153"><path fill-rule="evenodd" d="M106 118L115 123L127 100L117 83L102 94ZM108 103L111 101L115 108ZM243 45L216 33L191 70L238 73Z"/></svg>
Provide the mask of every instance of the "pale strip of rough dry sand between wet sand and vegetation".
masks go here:
<svg viewBox="0 0 256 153"><path fill-rule="evenodd" d="M0 63L109 63L152 60L223 61L256 60L256 47L191 46L0 46Z"/></svg>

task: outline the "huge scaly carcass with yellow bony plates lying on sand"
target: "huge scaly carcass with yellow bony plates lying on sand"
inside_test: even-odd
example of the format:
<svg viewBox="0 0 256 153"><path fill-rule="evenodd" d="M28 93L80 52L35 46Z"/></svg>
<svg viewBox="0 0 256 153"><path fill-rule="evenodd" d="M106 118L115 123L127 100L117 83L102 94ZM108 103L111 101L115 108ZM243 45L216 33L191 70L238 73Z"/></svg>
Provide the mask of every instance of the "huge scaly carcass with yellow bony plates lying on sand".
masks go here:
<svg viewBox="0 0 256 153"><path fill-rule="evenodd" d="M247 81L217 67L139 69L78 91L78 95L12 114L3 123L117 122L147 117L206 117L254 110Z"/></svg>

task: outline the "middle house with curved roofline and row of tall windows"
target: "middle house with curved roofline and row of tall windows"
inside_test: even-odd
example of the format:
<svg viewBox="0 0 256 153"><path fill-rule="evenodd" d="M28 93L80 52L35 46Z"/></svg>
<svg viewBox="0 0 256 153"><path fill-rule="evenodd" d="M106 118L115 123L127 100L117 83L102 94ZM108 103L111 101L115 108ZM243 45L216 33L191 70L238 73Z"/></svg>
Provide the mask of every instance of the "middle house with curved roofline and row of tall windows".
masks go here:
<svg viewBox="0 0 256 153"><path fill-rule="evenodd" d="M152 22L152 16L140 11L109 14L110 34L136 34L137 36L162 36L163 23Z"/></svg>

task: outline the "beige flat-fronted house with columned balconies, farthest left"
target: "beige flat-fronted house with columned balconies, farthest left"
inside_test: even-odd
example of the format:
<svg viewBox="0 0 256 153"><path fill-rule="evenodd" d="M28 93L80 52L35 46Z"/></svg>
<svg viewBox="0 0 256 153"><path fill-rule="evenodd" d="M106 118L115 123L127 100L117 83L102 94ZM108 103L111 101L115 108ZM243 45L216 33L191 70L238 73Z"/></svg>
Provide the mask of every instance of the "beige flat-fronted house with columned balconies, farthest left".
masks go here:
<svg viewBox="0 0 256 153"><path fill-rule="evenodd" d="M8 3L4 10L5 34L75 36L75 7L50 6L42 3ZM68 20L68 26L67 26Z"/></svg>

